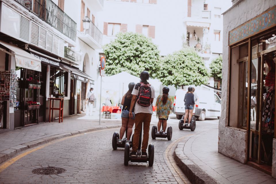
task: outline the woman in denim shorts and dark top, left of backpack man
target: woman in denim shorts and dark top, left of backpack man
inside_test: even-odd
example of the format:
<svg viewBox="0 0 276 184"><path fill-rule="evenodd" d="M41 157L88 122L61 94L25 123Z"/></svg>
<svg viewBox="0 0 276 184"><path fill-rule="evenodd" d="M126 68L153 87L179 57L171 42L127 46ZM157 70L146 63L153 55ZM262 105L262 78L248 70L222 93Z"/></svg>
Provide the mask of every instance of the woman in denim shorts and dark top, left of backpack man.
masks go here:
<svg viewBox="0 0 276 184"><path fill-rule="evenodd" d="M129 143L130 141L130 137L132 134L132 128L134 125L134 119L135 119L135 115L133 114L133 117L129 118L129 109L130 109L130 104L131 104L131 99L132 99L132 95L131 92L133 90L135 86L135 83L129 83L129 91L127 91L126 94L124 94L123 98L122 98L122 127L120 129L120 137L119 137L119 143L122 143L122 138L124 136L124 132L127 129L127 140L126 143ZM132 112L134 112L134 108L132 110Z"/></svg>

